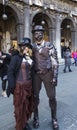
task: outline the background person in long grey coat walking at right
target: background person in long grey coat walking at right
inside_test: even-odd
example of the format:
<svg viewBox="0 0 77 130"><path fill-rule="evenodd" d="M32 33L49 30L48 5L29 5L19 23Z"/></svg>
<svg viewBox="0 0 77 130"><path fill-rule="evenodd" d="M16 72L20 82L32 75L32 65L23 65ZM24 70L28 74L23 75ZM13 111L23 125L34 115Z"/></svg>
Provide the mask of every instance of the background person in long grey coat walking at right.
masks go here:
<svg viewBox="0 0 77 130"><path fill-rule="evenodd" d="M67 48L64 53L64 60L65 60L65 66L64 66L63 72L66 73L67 67L68 67L69 72L72 72L70 68L71 67L71 52L69 48Z"/></svg>

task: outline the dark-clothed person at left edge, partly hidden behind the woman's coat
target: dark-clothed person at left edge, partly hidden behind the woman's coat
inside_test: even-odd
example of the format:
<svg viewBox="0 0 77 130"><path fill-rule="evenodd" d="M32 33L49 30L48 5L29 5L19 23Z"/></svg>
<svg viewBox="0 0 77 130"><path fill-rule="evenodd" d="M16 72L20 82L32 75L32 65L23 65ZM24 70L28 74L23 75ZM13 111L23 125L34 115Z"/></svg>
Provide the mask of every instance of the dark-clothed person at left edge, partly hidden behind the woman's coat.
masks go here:
<svg viewBox="0 0 77 130"><path fill-rule="evenodd" d="M8 71L10 60L11 60L11 55L0 51L0 77L2 81L2 96L3 97L7 97L7 94L6 94L7 71Z"/></svg>

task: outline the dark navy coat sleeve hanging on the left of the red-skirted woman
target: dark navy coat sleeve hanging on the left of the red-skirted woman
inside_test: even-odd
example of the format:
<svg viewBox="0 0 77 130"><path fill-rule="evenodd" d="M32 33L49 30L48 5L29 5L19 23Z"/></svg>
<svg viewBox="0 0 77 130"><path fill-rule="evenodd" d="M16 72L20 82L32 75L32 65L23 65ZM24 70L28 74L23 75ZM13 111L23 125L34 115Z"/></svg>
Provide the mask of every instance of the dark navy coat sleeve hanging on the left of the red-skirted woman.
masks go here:
<svg viewBox="0 0 77 130"><path fill-rule="evenodd" d="M13 93L15 84L16 84L16 77L19 71L22 56L20 55L18 50L15 50L11 57L11 62L8 69L8 89L7 94Z"/></svg>

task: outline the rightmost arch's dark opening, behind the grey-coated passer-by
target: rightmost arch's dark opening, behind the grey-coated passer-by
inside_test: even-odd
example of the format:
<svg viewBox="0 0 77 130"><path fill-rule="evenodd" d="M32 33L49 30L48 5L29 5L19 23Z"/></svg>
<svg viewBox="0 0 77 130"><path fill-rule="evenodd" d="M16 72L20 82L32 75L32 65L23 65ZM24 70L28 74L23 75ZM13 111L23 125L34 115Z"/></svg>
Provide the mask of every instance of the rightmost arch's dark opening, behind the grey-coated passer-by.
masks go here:
<svg viewBox="0 0 77 130"><path fill-rule="evenodd" d="M72 20L66 18L61 24L61 57L63 58L66 47L72 47Z"/></svg>

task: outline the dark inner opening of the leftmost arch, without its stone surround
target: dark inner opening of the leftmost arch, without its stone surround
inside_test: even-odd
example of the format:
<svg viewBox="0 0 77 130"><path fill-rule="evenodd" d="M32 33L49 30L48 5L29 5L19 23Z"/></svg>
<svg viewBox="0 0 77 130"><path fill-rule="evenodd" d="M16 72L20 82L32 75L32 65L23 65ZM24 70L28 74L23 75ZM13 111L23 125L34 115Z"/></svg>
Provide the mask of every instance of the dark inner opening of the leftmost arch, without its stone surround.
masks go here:
<svg viewBox="0 0 77 130"><path fill-rule="evenodd" d="M5 8L7 19L3 17L4 6L2 4L0 4L0 9L0 27L2 29L0 49L8 52L13 42L17 41L16 19L13 14L14 11L9 6Z"/></svg>

